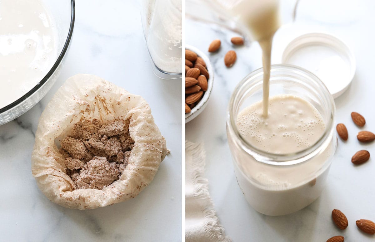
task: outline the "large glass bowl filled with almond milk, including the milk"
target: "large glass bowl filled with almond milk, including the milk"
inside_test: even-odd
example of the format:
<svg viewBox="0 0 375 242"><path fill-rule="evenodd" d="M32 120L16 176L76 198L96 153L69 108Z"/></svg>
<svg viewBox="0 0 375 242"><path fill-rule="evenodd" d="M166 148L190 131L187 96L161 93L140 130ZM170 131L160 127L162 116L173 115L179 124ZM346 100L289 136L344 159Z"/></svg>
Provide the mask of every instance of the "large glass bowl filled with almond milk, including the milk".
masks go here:
<svg viewBox="0 0 375 242"><path fill-rule="evenodd" d="M74 0L0 1L0 125L55 83L74 27Z"/></svg>

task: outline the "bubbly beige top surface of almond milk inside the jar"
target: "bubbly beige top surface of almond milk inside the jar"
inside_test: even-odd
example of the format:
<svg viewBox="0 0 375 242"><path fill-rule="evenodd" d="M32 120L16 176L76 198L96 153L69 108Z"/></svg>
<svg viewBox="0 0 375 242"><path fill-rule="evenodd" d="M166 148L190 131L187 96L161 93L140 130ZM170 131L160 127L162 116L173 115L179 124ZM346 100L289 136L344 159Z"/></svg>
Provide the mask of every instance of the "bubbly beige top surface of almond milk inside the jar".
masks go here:
<svg viewBox="0 0 375 242"><path fill-rule="evenodd" d="M325 129L318 110L293 95L270 97L269 115L262 115L262 102L243 109L237 116L240 135L254 147L270 153L293 153L313 145Z"/></svg>

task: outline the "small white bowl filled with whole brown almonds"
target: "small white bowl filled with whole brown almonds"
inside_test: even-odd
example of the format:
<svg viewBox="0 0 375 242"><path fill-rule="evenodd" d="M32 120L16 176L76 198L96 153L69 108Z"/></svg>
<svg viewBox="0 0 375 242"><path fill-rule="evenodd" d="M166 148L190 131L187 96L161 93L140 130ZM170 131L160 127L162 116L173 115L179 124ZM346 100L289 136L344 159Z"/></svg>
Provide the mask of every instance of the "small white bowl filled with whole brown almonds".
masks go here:
<svg viewBox="0 0 375 242"><path fill-rule="evenodd" d="M213 69L199 49L185 49L185 123L194 119L207 105L213 86Z"/></svg>

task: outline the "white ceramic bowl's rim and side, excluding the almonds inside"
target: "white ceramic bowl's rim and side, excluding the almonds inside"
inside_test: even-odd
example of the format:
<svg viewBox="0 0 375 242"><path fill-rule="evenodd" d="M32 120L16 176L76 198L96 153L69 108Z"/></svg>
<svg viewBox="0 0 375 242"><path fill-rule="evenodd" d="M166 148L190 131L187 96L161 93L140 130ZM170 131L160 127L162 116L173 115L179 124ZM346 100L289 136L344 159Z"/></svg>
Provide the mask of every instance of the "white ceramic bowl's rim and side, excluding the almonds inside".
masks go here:
<svg viewBox="0 0 375 242"><path fill-rule="evenodd" d="M204 108L207 106L207 101L208 101L208 98L210 98L210 94L212 91L214 73L213 73L213 68L212 68L210 59L208 59L207 55L205 55L201 50L191 45L186 45L185 48L195 52L198 56L200 56L204 60L204 62L206 63L207 71L210 74L210 78L208 78L207 80L207 83L208 83L207 91L204 92L203 98L201 99L201 101L198 102L198 104L195 107L192 108L190 113L185 114L185 123L188 123L189 121L193 120L196 116L198 116L199 113L201 113L204 110Z"/></svg>

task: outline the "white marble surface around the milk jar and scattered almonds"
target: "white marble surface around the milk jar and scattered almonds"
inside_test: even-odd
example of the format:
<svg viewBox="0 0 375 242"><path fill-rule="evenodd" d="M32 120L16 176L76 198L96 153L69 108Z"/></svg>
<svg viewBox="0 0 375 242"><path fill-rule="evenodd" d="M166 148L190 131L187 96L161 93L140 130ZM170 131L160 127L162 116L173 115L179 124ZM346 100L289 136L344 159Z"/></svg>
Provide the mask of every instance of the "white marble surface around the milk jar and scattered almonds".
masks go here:
<svg viewBox="0 0 375 242"><path fill-rule="evenodd" d="M336 102L336 118L347 125L349 139L339 140L330 169L326 189L311 205L290 215L270 217L256 212L246 202L233 172L231 154L226 138L226 109L229 96L246 74L261 67L260 48L233 48L233 34L216 28L186 22L186 44L207 50L213 39L221 39L218 53L208 54L215 70L214 87L208 105L196 119L186 125L186 139L202 141L206 148L206 176L220 222L226 235L233 241L326 241L343 235L345 241L374 241L375 235L366 235L357 229L355 221L375 221L375 160L353 166L351 156L367 149L375 154L375 144L362 145L356 139L361 129L351 121L350 113L357 111L366 118L362 130L375 131L374 90L374 18L375 5L370 0L361 1L307 1L301 0L297 10L296 25L305 30L322 30L339 36L353 50L357 59L357 72L350 88ZM199 36L199 37L198 37ZM290 36L278 33L279 41ZM275 54L279 52L275 42ZM235 49L237 62L226 68L223 56ZM276 62L274 62L276 64ZM332 223L332 209L341 209L349 226L344 231Z"/></svg>

